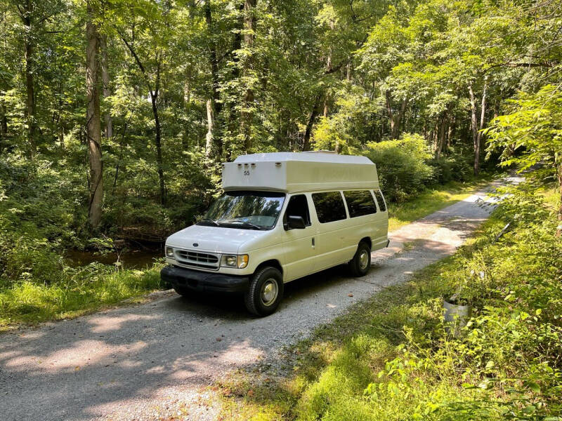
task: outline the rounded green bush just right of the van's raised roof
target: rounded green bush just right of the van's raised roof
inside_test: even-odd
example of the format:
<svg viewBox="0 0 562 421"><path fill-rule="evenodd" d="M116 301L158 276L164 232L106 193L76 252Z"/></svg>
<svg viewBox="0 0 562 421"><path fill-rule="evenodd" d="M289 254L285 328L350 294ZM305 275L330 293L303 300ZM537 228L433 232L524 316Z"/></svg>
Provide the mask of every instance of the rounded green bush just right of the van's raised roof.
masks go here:
<svg viewBox="0 0 562 421"><path fill-rule="evenodd" d="M366 155L377 164L379 181L391 201L406 201L431 182L433 168L426 142L421 135L404 134L398 140L369 142Z"/></svg>

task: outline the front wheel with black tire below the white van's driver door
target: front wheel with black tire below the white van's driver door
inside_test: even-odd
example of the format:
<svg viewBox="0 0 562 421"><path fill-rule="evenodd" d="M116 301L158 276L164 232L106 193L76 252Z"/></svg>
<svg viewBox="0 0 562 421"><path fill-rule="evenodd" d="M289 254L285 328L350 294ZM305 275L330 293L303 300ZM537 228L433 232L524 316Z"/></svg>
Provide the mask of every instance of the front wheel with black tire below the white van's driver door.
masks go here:
<svg viewBox="0 0 562 421"><path fill-rule="evenodd" d="M279 269L266 266L252 276L249 289L244 294L244 304L251 314L268 316L279 307L282 298L283 276Z"/></svg>

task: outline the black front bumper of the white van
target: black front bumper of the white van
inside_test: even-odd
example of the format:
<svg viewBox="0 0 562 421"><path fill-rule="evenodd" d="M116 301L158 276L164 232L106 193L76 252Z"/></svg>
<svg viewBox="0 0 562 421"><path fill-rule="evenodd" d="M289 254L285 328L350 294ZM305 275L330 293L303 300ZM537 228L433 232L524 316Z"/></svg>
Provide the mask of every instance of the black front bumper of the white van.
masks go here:
<svg viewBox="0 0 562 421"><path fill-rule="evenodd" d="M197 291L240 293L249 288L248 276L201 272L176 266L164 267L160 278L172 286Z"/></svg>

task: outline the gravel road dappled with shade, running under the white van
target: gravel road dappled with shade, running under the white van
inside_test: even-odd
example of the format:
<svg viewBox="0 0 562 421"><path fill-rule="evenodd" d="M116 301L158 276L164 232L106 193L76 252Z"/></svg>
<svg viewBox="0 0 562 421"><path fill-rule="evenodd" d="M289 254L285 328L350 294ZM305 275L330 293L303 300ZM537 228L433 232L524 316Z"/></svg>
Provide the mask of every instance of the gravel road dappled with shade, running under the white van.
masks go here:
<svg viewBox="0 0 562 421"><path fill-rule="evenodd" d="M336 267L287 284L278 311L263 319L231 296L166 292L0 335L0 419L211 420L214 380L275 356L354 302L454 253L488 217L491 206L481 201L485 192L392 232L363 278Z"/></svg>

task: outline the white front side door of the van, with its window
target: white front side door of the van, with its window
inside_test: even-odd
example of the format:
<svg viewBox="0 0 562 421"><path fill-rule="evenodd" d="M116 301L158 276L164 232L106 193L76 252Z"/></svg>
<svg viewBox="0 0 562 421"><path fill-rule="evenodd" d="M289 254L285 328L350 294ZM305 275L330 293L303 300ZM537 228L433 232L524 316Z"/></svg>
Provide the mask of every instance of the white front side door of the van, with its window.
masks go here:
<svg viewBox="0 0 562 421"><path fill-rule="evenodd" d="M291 229L287 226L289 215L300 216L304 220L304 229ZM283 215L285 226L285 253L286 281L301 278L315 270L315 229L311 227L311 213L308 208L308 198L305 194L295 194L289 198L287 209Z"/></svg>

